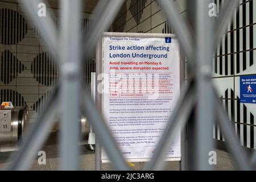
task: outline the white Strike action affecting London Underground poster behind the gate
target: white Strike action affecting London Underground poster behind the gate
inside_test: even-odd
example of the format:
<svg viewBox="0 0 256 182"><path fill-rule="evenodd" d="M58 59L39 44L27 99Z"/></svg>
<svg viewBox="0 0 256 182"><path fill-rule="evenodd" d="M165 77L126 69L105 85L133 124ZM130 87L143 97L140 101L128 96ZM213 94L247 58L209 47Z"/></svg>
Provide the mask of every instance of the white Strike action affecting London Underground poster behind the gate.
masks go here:
<svg viewBox="0 0 256 182"><path fill-rule="evenodd" d="M102 111L123 156L147 161L179 97L179 44L171 35L111 35L102 38ZM167 160L180 159L177 133Z"/></svg>

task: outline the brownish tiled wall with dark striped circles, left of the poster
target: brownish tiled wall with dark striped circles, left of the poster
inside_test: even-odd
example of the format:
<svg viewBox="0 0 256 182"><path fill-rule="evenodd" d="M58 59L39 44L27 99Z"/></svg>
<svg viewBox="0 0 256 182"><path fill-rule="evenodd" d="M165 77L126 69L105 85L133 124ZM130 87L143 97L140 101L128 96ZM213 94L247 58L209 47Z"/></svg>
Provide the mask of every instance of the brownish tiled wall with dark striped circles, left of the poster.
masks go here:
<svg viewBox="0 0 256 182"><path fill-rule="evenodd" d="M51 2L51 16L60 28L59 9ZM12 101L15 106L28 105L30 122L34 122L58 82L59 68L46 51L38 28L31 24L16 0L0 0L0 102ZM83 13L82 31L88 30L90 14ZM84 81L89 84L94 59L85 65Z"/></svg>

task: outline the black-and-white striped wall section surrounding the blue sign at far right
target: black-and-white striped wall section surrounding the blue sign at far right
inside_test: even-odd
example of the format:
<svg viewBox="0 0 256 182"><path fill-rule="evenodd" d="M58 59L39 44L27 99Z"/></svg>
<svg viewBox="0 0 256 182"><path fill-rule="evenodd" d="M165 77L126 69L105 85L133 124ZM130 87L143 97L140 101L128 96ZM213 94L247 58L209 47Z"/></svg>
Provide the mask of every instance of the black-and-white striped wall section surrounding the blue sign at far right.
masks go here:
<svg viewBox="0 0 256 182"><path fill-rule="evenodd" d="M222 6L224 1L217 1ZM256 1L240 1L213 58L213 81L233 126L248 148L256 148L256 104L240 103L240 76L256 75ZM214 137L225 140L216 127Z"/></svg>

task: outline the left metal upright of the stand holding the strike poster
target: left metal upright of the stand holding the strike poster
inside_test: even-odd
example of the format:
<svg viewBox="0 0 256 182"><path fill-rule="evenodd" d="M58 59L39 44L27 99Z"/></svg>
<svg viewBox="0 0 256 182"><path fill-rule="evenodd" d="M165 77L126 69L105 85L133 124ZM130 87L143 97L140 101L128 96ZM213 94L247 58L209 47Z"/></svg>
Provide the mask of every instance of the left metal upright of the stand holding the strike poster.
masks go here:
<svg viewBox="0 0 256 182"><path fill-rule="evenodd" d="M97 48L96 48L96 75L99 75L102 72L102 63L101 63L101 41L98 42ZM96 77L96 85L99 85L100 81ZM97 88L96 88L97 90ZM101 110L101 93L96 93L96 106L98 110ZM101 171L101 143L98 139L97 133L96 133L96 139L95 139L95 170Z"/></svg>

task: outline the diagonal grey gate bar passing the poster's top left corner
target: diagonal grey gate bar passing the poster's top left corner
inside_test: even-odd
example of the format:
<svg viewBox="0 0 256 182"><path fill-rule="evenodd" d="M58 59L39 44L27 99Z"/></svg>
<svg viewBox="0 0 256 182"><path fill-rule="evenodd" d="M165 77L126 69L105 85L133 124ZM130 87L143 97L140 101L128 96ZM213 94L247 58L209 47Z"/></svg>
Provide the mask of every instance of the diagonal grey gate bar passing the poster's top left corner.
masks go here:
<svg viewBox="0 0 256 182"><path fill-rule="evenodd" d="M97 42L99 42L102 36L102 32L108 30L112 20L115 18L115 15L117 15L118 10L122 6L123 2L125 1L101 0L98 2L98 5L93 11L93 14L95 15L93 18L94 21L92 26L90 26L88 34L86 34L84 38L85 44L83 46L83 55L85 57L92 55Z"/></svg>

